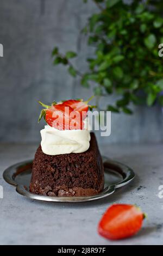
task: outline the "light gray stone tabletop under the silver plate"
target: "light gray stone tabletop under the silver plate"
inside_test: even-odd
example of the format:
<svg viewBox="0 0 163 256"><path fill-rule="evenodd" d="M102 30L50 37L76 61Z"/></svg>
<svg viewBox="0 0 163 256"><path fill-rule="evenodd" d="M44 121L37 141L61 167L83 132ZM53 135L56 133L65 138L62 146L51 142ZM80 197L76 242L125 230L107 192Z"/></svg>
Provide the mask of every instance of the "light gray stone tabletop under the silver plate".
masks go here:
<svg viewBox="0 0 163 256"><path fill-rule="evenodd" d="M126 163L136 173L135 180L119 188L108 198L95 202L68 204L37 202L16 193L7 184L3 170L31 159L36 144L0 145L0 245L162 245L163 199L158 197L163 185L163 145L100 145L101 153ZM137 204L148 214L143 228L134 237L109 241L97 234L97 223L110 204Z"/></svg>

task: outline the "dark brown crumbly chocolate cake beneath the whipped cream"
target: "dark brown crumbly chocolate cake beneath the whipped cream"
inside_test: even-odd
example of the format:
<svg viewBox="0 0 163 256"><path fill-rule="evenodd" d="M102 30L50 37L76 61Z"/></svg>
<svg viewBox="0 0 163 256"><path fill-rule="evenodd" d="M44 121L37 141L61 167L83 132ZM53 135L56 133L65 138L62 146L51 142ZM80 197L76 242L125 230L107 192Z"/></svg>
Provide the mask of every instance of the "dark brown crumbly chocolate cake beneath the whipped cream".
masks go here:
<svg viewBox="0 0 163 256"><path fill-rule="evenodd" d="M45 196L92 196L103 191L104 167L94 133L84 153L46 155L41 145L33 161L30 192Z"/></svg>

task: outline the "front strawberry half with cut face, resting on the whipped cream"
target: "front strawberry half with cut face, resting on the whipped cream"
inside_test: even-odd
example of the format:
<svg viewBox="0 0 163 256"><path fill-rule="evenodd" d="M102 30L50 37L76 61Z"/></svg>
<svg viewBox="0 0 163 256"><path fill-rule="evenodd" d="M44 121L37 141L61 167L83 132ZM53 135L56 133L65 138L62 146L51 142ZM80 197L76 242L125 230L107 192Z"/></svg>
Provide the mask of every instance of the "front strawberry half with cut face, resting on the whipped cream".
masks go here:
<svg viewBox="0 0 163 256"><path fill-rule="evenodd" d="M46 109L46 123L58 130L77 130L83 129L83 121L80 118L70 118L73 108L62 104L57 104Z"/></svg>

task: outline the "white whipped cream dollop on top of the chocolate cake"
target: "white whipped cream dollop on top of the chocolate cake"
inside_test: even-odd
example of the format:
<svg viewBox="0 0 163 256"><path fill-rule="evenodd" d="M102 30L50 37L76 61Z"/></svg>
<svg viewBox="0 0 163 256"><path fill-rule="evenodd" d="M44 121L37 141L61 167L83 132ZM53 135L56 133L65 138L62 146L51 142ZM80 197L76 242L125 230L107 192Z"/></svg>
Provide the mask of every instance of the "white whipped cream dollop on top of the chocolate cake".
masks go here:
<svg viewBox="0 0 163 256"><path fill-rule="evenodd" d="M45 125L41 131L41 148L47 155L83 153L90 147L90 126L84 121L84 130L60 131Z"/></svg>

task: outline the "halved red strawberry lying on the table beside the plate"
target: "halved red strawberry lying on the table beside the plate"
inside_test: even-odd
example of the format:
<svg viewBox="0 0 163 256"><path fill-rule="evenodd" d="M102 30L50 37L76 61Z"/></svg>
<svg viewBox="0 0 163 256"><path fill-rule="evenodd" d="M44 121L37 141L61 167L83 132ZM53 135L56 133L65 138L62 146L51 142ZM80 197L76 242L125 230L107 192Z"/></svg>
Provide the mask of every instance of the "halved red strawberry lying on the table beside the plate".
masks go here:
<svg viewBox="0 0 163 256"><path fill-rule="evenodd" d="M144 216L135 205L111 205L98 224L98 233L111 240L132 236L140 230Z"/></svg>

